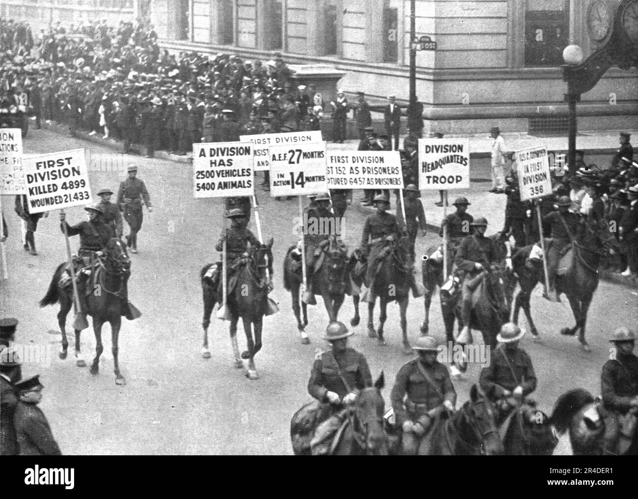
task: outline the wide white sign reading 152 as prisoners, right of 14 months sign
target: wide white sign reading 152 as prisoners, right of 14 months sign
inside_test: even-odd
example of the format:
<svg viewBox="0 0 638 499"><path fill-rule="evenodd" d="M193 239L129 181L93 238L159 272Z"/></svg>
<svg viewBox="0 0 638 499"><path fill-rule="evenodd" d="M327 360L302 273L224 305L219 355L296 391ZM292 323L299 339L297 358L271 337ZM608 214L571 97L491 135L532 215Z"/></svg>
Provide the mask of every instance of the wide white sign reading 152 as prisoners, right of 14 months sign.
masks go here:
<svg viewBox="0 0 638 499"><path fill-rule="evenodd" d="M399 151L331 151L326 158L329 189L401 189Z"/></svg>

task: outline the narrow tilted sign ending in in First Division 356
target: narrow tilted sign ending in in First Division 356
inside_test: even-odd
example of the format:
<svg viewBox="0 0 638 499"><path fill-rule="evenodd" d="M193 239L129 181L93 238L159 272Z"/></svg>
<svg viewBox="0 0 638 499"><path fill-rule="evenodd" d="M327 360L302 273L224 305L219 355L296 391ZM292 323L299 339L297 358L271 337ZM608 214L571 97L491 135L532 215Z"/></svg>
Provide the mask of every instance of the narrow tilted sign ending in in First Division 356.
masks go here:
<svg viewBox="0 0 638 499"><path fill-rule="evenodd" d="M542 198L552 193L547 147L531 147L516 151L516 168L521 201Z"/></svg>

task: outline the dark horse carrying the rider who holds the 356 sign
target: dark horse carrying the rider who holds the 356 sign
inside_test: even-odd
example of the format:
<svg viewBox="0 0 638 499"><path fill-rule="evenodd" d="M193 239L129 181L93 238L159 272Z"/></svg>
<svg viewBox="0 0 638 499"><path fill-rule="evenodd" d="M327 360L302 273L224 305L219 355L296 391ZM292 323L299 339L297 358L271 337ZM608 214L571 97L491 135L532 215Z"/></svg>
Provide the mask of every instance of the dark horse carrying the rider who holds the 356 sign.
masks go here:
<svg viewBox="0 0 638 499"><path fill-rule="evenodd" d="M580 234L572 243L574 257L572 266L563 276L556 276L556 290L560 294L567 295L576 324L572 328L563 327L561 334L574 336L579 331L579 341L584 352L590 352L590 346L585 339L585 326L587 322L587 312L590 308L591 299L598 287L598 262L600 257L605 255L602 248L609 246L609 241L613 234L608 230L595 230L592 223L584 223L581 226ZM516 295L514 302L513 322L518 322L521 307L525 313L531 334L536 341L540 339L536 325L530 313L531 292L538 282L544 279L542 262L530 262L528 257L533 244L524 246L514 253L512 264L521 290Z"/></svg>

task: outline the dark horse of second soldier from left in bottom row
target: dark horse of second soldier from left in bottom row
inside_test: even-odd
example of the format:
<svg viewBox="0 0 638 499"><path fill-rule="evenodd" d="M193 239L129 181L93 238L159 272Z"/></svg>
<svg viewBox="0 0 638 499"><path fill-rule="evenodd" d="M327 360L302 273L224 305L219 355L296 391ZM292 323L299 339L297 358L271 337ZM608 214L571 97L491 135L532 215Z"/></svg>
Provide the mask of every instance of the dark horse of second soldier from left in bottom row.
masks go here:
<svg viewBox="0 0 638 499"><path fill-rule="evenodd" d="M428 429L419 445L419 456L498 456L503 454L495 409L477 385L470 400L453 415L441 416Z"/></svg>

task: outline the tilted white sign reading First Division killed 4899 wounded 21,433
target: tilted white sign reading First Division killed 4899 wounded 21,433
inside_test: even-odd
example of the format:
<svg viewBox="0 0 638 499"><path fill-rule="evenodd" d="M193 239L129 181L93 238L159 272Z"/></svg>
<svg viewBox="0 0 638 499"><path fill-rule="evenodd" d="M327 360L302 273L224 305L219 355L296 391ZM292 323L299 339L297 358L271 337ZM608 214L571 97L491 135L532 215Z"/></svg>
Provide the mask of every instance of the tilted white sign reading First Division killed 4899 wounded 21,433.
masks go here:
<svg viewBox="0 0 638 499"><path fill-rule="evenodd" d="M93 201L84 149L22 159L29 212L41 213Z"/></svg>

